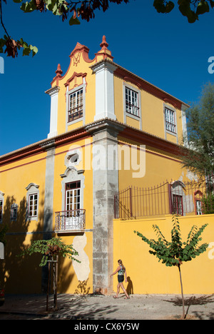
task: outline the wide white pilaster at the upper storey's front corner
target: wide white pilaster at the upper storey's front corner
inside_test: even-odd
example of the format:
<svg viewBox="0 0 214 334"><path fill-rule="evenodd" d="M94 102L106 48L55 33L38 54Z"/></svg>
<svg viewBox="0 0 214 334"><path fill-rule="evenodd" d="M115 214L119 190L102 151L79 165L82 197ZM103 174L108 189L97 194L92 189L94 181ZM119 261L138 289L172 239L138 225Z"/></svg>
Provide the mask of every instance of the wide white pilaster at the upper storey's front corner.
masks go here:
<svg viewBox="0 0 214 334"><path fill-rule="evenodd" d="M114 112L113 71L116 66L103 61L92 66L96 74L96 115L94 121L101 118L116 120Z"/></svg>

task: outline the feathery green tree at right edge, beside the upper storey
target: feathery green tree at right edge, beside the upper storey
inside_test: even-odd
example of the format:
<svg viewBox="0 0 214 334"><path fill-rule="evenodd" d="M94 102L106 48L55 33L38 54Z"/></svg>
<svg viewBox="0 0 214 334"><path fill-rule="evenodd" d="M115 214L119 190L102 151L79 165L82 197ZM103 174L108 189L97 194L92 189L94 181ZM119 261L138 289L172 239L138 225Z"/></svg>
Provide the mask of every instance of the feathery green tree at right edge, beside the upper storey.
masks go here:
<svg viewBox="0 0 214 334"><path fill-rule="evenodd" d="M200 101L187 111L187 137L189 149L182 152L183 166L200 176L214 172L214 84L203 87Z"/></svg>

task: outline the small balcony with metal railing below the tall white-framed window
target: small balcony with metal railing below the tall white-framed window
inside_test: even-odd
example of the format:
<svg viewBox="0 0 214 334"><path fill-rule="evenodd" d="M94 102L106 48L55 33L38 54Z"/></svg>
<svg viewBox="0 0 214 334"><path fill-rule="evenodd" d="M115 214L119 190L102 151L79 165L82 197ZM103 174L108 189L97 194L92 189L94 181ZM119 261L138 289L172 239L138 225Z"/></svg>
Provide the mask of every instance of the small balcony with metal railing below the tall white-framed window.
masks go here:
<svg viewBox="0 0 214 334"><path fill-rule="evenodd" d="M83 231L86 229L86 210L58 211L55 213L55 231L57 233Z"/></svg>

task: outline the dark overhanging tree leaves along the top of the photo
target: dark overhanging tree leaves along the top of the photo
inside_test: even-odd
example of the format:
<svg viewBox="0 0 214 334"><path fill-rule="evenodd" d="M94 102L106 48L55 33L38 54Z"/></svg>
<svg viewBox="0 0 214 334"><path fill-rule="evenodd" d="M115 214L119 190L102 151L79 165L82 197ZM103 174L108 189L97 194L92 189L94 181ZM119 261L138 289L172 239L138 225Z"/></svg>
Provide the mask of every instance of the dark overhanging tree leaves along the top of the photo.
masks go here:
<svg viewBox="0 0 214 334"><path fill-rule="evenodd" d="M97 9L103 12L107 11L110 3L128 4L129 1L130 0L14 0L25 13L31 13L32 11L40 11L41 13L51 11L55 16L61 16L62 21L68 19L71 26L73 24L80 24L79 19L90 21L95 17L95 11ZM207 13L214 7L213 0L154 0L153 6L158 13L168 14L174 9L176 2L180 13L186 16L190 23L195 22L198 20L199 15ZM1 26L4 29L4 38L0 39L0 53L4 52L7 56L15 58L18 55L18 51L22 49L23 56L29 56L29 54L35 56L38 52L36 46L27 44L22 38L15 40L9 35L3 21L3 3L6 4L6 0L0 0Z"/></svg>

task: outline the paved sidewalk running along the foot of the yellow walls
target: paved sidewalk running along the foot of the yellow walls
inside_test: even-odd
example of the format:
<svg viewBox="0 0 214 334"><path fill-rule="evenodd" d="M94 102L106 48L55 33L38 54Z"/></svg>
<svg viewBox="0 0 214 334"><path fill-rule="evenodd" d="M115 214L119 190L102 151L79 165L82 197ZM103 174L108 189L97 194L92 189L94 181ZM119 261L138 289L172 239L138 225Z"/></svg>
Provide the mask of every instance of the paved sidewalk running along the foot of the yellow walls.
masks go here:
<svg viewBox="0 0 214 334"><path fill-rule="evenodd" d="M120 295L60 294L58 310L53 311L53 295L6 295L0 307L0 320L19 317L44 320L172 320L182 315L180 295ZM214 320L214 295L185 295L185 313L193 320Z"/></svg>

